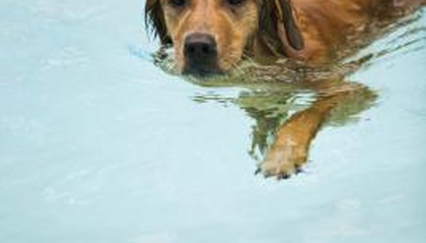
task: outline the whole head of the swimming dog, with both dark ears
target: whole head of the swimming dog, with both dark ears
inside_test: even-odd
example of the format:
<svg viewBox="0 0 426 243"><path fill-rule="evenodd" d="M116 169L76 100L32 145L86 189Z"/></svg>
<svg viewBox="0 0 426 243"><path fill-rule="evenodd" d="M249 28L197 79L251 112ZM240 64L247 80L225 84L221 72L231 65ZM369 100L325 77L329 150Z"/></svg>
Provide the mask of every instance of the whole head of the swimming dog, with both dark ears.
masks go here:
<svg viewBox="0 0 426 243"><path fill-rule="evenodd" d="M303 48L290 0L147 0L145 17L183 73L226 72L258 46L284 55L286 45Z"/></svg>

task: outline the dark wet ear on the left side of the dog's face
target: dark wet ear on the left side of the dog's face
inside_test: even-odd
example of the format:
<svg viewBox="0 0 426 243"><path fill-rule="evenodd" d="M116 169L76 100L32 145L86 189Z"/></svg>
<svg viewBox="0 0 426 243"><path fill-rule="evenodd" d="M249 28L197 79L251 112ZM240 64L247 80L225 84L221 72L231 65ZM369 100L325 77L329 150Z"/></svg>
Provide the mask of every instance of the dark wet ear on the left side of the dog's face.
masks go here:
<svg viewBox="0 0 426 243"><path fill-rule="evenodd" d="M158 36L162 45L171 43L160 0L146 0L145 27L147 30L152 28L154 36Z"/></svg>

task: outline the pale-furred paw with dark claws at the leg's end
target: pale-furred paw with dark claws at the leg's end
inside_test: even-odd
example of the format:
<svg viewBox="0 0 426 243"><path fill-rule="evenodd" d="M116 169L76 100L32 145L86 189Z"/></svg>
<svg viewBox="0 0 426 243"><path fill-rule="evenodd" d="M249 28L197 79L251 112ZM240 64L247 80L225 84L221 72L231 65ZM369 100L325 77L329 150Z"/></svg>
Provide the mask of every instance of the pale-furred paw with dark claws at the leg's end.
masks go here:
<svg viewBox="0 0 426 243"><path fill-rule="evenodd" d="M274 176L277 179L287 179L292 174L302 172L302 166L306 160L307 147L288 141L270 149L265 159L258 164L256 174L261 173L265 177Z"/></svg>

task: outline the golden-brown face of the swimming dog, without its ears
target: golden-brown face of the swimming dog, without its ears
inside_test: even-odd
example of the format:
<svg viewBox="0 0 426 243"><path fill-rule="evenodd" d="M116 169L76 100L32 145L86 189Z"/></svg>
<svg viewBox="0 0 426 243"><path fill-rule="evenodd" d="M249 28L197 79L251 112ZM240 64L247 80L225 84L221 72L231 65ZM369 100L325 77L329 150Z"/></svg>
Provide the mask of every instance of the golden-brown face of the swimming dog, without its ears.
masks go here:
<svg viewBox="0 0 426 243"><path fill-rule="evenodd" d="M241 58L257 29L255 0L161 0L178 68L222 72Z"/></svg>

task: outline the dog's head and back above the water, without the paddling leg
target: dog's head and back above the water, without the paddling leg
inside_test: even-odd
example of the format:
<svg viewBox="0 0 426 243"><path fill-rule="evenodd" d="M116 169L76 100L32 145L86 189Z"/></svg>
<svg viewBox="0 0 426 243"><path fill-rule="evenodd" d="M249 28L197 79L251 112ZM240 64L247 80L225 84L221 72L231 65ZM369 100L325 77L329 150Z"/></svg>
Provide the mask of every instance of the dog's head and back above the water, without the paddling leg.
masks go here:
<svg viewBox="0 0 426 243"><path fill-rule="evenodd" d="M425 0L147 0L162 44L172 44L184 73L226 72L244 56L273 55L307 65L336 50L375 17Z"/></svg>

